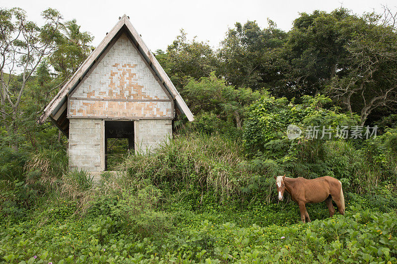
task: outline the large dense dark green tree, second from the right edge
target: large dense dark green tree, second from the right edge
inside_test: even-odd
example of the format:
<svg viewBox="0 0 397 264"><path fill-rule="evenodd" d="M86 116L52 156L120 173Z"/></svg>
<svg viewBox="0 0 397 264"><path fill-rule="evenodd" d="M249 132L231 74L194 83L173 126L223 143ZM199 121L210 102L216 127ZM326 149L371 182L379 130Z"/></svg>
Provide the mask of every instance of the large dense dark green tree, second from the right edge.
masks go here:
<svg viewBox="0 0 397 264"><path fill-rule="evenodd" d="M350 18L346 9L331 13L301 13L289 32L283 55L289 63L285 68L287 92L315 95L341 68L345 67L352 27L341 25Z"/></svg>

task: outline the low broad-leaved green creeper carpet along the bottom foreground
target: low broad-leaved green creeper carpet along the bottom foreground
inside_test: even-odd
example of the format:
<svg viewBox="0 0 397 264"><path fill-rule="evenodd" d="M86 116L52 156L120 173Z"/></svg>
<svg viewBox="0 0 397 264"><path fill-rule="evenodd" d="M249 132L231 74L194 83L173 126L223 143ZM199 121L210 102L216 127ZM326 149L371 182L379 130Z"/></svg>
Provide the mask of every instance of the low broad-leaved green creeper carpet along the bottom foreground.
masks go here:
<svg viewBox="0 0 397 264"><path fill-rule="evenodd" d="M8 217L8 221L3 221L0 253L2 263L397 261L395 212L374 212L364 210L359 205L350 206L344 216L323 217L321 220L302 224L296 222L298 211L293 205L275 207L281 211L280 215L290 215L285 220L294 223L260 226L256 223L233 223L223 219L244 219L245 215L241 211L146 211L144 214L151 217L146 217L141 223L133 223L135 228L141 230L129 233L128 228L121 228L125 222L114 217L73 215L77 210L76 204L64 200L51 207L29 211L23 220L10 221ZM320 211L326 210L323 207ZM249 212L275 218L274 213L255 209ZM166 213L167 223L157 222L161 220L161 215L156 213ZM164 231L164 225L167 224L170 224L169 230ZM150 226L156 227L152 236L136 237L136 234L145 232Z"/></svg>

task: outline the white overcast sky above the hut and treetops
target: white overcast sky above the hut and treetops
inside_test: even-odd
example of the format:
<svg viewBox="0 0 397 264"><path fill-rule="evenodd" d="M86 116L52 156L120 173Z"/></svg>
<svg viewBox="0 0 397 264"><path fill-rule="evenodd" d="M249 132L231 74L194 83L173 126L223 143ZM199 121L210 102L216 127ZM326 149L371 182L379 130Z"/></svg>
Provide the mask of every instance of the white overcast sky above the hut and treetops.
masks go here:
<svg viewBox="0 0 397 264"><path fill-rule="evenodd" d="M291 29L292 21L300 12L332 11L340 6L361 14L382 11L382 4L396 10L395 0L0 0L1 7L21 7L29 20L42 24L40 13L48 7L58 9L65 20L77 19L80 30L90 32L93 45L98 45L118 21L119 16L130 16L132 25L151 51L165 50L179 35L181 28L188 38L197 36L217 48L228 27L236 21L256 20L261 28L267 18L278 28Z"/></svg>

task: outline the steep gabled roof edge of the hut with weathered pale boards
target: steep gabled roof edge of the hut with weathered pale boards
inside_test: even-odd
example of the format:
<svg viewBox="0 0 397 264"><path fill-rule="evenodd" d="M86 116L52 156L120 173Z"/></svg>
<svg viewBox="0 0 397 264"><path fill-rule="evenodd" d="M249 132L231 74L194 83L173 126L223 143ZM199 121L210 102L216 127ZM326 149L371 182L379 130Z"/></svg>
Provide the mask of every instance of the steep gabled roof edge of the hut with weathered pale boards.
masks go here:
<svg viewBox="0 0 397 264"><path fill-rule="evenodd" d="M166 88L170 96L175 102L176 107L180 112L186 114L189 121L193 121L194 117L185 101L171 82L156 57L147 48L140 35L137 33L135 28L132 26L127 15L123 15L112 30L106 35L98 47L90 53L87 59L81 64L78 70L73 76L66 82L64 87L54 97L54 99L44 109L43 114L40 116L38 123L42 124L50 117L54 123L60 128L65 134L67 134L68 119L67 119L67 96L76 88L76 86L86 78L90 69L95 65L98 60L105 54L105 51L112 45L114 41L120 36L120 32L124 31L131 38L133 44L141 53L142 57L146 60L147 65L151 68L155 78Z"/></svg>

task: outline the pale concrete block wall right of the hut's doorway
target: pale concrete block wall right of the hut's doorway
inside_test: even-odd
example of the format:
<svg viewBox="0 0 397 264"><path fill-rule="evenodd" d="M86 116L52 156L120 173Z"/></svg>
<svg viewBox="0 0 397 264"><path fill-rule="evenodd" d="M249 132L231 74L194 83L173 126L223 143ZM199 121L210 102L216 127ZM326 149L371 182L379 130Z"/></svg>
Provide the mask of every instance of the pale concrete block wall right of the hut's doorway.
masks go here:
<svg viewBox="0 0 397 264"><path fill-rule="evenodd" d="M136 152L153 151L159 144L172 138L172 120L140 119L135 122Z"/></svg>

